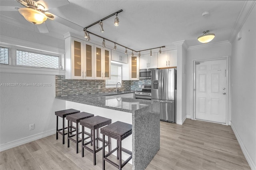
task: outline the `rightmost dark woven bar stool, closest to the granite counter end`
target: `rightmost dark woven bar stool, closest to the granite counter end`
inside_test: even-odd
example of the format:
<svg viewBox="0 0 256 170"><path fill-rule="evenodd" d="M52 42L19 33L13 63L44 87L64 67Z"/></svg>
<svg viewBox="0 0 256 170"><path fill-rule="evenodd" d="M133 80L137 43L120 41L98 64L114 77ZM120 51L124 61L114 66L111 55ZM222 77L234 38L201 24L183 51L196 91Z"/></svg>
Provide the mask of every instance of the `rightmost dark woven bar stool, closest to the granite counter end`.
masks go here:
<svg viewBox="0 0 256 170"><path fill-rule="evenodd" d="M103 135L102 140L105 140L105 135L117 140L117 147L114 148L112 151L108 152L108 154L105 155L105 148L102 148L102 170L105 170L105 161L121 170L129 162L129 160L132 159L132 152L130 150L122 148L122 140L132 134L132 125L117 121L115 123L112 123L111 125L100 128L100 133ZM107 158L116 150L118 164ZM130 157L126 161L124 161L124 163L122 163L122 151L130 155Z"/></svg>

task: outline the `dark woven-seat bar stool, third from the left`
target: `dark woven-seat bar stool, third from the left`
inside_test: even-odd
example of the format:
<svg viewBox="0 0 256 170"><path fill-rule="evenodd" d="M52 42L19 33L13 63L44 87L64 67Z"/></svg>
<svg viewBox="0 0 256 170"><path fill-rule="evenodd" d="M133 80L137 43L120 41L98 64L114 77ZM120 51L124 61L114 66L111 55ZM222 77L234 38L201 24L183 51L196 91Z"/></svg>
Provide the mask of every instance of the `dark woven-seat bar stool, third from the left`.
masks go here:
<svg viewBox="0 0 256 170"><path fill-rule="evenodd" d="M105 140L102 140L102 138L99 137L99 129L101 127L104 127L106 125L110 125L111 123L111 119L105 118L105 117L101 117L101 116L95 116L95 117L90 117L87 119L83 119L80 121L80 125L82 125L82 157L84 157L84 148L86 148L87 150L89 150L90 152L93 153L93 164L96 165L96 153L99 152L100 150L102 150L102 147L98 147L99 146L99 141L104 141L104 143L107 143L107 146L109 146L109 150L111 149L111 141L110 138L108 138L108 142L106 142ZM92 140L90 140L89 142L84 143L84 127L90 128L91 132L92 132ZM96 136L95 136L95 130L96 130ZM102 145L104 145L104 143L102 143ZM89 148L88 144L92 144L93 149ZM96 150L97 148L97 150Z"/></svg>

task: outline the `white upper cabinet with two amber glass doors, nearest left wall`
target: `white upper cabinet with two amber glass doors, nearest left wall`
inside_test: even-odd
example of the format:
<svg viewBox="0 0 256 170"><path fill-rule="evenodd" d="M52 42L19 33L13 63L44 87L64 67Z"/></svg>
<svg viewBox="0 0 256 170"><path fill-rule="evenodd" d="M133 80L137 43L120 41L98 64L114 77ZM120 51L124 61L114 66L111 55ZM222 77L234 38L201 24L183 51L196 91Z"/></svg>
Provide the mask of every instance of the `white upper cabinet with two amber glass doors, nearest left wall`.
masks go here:
<svg viewBox="0 0 256 170"><path fill-rule="evenodd" d="M94 45L69 36L65 39L66 79L93 79ZM87 76L86 76L87 75Z"/></svg>

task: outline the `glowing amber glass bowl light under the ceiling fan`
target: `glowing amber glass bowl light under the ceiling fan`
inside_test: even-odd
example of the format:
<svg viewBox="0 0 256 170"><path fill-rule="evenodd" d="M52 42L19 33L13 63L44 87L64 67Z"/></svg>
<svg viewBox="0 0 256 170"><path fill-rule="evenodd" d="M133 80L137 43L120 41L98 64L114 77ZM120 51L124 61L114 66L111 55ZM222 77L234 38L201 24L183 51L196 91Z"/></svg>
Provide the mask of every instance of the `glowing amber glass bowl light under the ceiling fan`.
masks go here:
<svg viewBox="0 0 256 170"><path fill-rule="evenodd" d="M33 24L42 24L47 20L44 13L32 8L19 8L18 11L28 22Z"/></svg>

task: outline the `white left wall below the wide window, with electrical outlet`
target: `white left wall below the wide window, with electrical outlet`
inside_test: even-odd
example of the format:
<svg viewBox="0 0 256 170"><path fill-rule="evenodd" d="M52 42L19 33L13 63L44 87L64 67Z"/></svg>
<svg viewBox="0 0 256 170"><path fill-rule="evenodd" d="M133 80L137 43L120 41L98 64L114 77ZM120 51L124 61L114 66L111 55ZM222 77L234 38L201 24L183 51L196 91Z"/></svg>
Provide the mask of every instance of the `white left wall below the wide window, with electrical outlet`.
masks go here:
<svg viewBox="0 0 256 170"><path fill-rule="evenodd" d="M55 99L55 75L0 73L1 83L51 83L48 87L0 86L1 150L22 144L33 135L55 133L54 112L65 109L65 101ZM29 130L33 123L34 130Z"/></svg>

